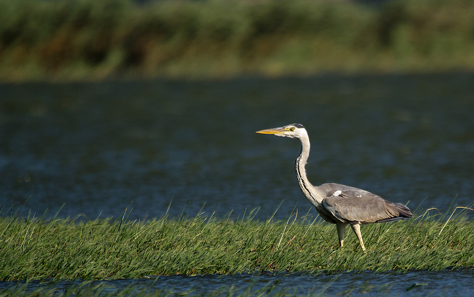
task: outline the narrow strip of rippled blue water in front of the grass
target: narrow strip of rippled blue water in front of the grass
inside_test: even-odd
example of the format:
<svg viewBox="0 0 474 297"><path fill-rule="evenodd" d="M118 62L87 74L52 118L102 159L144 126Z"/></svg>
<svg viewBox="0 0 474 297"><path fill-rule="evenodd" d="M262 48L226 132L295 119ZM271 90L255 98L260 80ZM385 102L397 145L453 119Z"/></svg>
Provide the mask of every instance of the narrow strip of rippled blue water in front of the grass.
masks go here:
<svg viewBox="0 0 474 297"><path fill-rule="evenodd" d="M159 291L182 296L210 294L228 296L230 287L235 295L261 292L270 289L269 296L287 290L287 296L472 296L474 292L474 271L414 271L405 274L372 272L343 272L334 275L305 274L241 274L241 275L199 275L151 277L139 280L110 280L92 282L93 286L106 293L118 294L125 288L136 291L156 293ZM15 282L0 282L0 291L15 288ZM80 285L80 282L59 282L55 284L59 295L67 288ZM21 286L21 284L20 284ZM28 290L48 288L49 284L32 282ZM273 287L273 288L272 288ZM220 290L220 291L219 291ZM260 290L260 291L259 291ZM265 294L266 296L266 294Z"/></svg>

